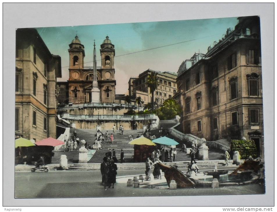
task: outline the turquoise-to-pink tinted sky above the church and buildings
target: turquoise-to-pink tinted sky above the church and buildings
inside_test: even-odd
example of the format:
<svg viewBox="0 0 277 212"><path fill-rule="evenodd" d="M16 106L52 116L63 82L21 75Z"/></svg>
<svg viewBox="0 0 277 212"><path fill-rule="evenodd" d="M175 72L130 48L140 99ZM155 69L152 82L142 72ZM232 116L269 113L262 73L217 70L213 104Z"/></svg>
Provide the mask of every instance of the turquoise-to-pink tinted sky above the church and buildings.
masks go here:
<svg viewBox="0 0 277 212"><path fill-rule="evenodd" d="M208 46L225 35L227 28L234 28L237 17L199 19L184 21L162 21L127 24L105 24L89 26L63 26L37 28L50 52L62 58L62 78L69 78L69 44L76 31L85 46L84 66L93 66L93 40L96 44L96 58L100 59L100 45L108 35L115 45L116 94L128 91L128 80L147 69L156 71L178 71L178 67L195 52L206 53ZM80 23L81 24L81 23ZM188 41L188 42L184 42ZM184 42L181 44L175 44ZM165 46L169 44L175 44ZM156 48L165 46L162 48ZM130 55L124 55L146 49ZM123 55L123 56L120 56ZM100 66L101 61L97 61Z"/></svg>

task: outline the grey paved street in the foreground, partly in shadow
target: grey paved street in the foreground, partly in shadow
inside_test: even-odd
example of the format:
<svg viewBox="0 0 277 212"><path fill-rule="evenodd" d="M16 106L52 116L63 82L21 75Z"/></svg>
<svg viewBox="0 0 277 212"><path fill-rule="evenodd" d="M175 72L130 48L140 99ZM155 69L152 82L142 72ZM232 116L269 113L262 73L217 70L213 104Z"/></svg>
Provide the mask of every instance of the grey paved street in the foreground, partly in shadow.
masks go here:
<svg viewBox="0 0 277 212"><path fill-rule="evenodd" d="M118 170L119 176L143 174L144 170ZM143 197L183 195L237 195L261 194L263 186L229 186L217 189L192 188L169 190L158 188L131 188L117 183L107 191L101 185L100 171L49 171L15 172L15 197L17 198L77 198L77 197Z"/></svg>

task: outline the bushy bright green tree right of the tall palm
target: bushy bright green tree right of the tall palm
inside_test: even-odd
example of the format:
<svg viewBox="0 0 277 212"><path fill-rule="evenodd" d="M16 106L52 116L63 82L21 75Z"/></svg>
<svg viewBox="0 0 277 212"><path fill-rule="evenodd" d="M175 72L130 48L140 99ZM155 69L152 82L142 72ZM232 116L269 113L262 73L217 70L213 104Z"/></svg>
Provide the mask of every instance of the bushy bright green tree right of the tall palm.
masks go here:
<svg viewBox="0 0 277 212"><path fill-rule="evenodd" d="M165 120L174 118L176 115L180 115L182 111L181 106L174 99L165 100L159 110L160 116L164 116Z"/></svg>

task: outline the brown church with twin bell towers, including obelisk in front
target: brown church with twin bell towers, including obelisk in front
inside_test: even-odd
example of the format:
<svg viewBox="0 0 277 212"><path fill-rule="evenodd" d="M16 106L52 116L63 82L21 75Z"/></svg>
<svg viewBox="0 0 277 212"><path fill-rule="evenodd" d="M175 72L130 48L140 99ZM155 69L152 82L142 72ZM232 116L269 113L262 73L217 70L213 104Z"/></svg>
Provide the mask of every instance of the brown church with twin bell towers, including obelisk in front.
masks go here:
<svg viewBox="0 0 277 212"><path fill-rule="evenodd" d="M85 67L85 47L78 36L69 44L68 102L115 102L115 46L107 36L100 47L101 67L96 66L95 41L93 67Z"/></svg>

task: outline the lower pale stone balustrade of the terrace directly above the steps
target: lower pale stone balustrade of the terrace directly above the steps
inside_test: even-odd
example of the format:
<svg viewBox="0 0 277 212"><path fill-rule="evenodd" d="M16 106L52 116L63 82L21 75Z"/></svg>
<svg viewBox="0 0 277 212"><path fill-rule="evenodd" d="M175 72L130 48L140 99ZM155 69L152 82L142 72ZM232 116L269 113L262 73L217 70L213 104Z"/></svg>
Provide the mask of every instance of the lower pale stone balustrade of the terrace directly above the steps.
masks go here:
<svg viewBox="0 0 277 212"><path fill-rule="evenodd" d="M61 118L66 120L156 120L156 114L147 115L75 115L69 113L63 113Z"/></svg>

